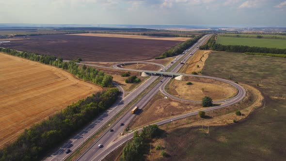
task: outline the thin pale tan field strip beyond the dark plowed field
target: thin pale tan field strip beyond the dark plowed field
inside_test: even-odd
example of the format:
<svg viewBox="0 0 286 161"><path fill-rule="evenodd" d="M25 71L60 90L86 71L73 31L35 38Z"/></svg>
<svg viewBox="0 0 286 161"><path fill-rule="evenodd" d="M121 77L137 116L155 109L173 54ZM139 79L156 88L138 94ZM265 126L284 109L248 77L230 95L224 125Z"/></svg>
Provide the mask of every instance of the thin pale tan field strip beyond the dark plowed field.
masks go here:
<svg viewBox="0 0 286 161"><path fill-rule="evenodd" d="M111 33L75 33L69 35L119 37L119 38L132 38L132 39L152 39L152 40L173 40L173 41L186 41L188 39L191 39L190 37L161 37L161 36L143 36L143 35L111 34Z"/></svg>

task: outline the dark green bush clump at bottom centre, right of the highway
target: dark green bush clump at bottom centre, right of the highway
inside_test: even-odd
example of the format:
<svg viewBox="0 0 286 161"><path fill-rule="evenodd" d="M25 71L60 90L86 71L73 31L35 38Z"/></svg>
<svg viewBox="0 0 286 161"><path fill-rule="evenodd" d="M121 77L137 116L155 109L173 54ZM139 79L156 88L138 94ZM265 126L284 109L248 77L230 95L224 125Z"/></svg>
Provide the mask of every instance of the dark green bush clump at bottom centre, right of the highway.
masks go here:
<svg viewBox="0 0 286 161"><path fill-rule="evenodd" d="M133 140L124 147L120 161L145 161L144 154L148 152L151 139L160 134L161 130L155 124L144 127L140 133L135 131Z"/></svg>

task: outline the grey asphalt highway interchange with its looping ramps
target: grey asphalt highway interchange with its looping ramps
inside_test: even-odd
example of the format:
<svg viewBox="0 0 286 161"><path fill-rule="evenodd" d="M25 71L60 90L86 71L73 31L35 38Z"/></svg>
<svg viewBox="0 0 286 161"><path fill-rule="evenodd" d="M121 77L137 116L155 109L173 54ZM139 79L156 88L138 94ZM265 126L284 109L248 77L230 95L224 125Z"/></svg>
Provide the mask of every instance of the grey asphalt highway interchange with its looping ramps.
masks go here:
<svg viewBox="0 0 286 161"><path fill-rule="evenodd" d="M176 59L177 62L183 61L183 60L188 60L192 54L194 54L199 46L204 44L207 39L211 35L205 35L201 40L198 41L198 43L194 44L190 48L190 52L184 55L179 55ZM128 62L128 63L137 63L137 62ZM141 63L147 63L147 62L141 62ZM85 64L85 65L90 65L90 66L96 66L99 67L98 65L94 64L86 64L86 63L79 63L79 64ZM121 63L122 64L122 63ZM154 64L154 63L149 63L149 64ZM173 66L172 66L173 65ZM171 69L170 72L160 72L163 74L176 74L178 75L177 71L182 67L183 64L180 63L175 63L174 64L168 64L166 66L160 65L162 71L166 71L169 68ZM102 67L102 66L100 66ZM105 68L111 68L111 67L105 67ZM112 67L113 69L116 68L118 70L126 70L126 71L137 71L137 72L144 72L143 70L135 70L135 69L125 69L121 68L120 64L115 64ZM169 69L169 70L170 70ZM153 71L154 72L154 71ZM219 106L214 106L210 108L206 108L204 111L213 111L216 109L220 109L232 104L235 104L242 100L245 95L246 91L245 89L240 86L237 83L234 83L232 81L224 80L221 78L215 78L215 77L208 77L208 76L201 76L201 75L187 75L187 74L180 74L184 76L195 76L195 77L203 77L203 78L208 78L208 79L214 79L218 81L223 81L226 83L229 83L233 86L235 86L238 89L238 94L230 99L222 100L222 101L216 101L214 103L223 103L222 105ZM140 85L137 89L135 89L132 93L130 93L128 96L123 97L124 94L118 99L118 101L108 110L107 112L103 113L99 118L94 120L90 125L85 127L83 130L81 130L77 135L75 135L73 138L68 140L62 147L57 149L52 156L48 157L46 161L62 161L66 159L70 154L65 154L64 150L69 148L73 151L75 151L85 140L89 139L94 133L96 133L99 129L101 129L113 116L116 115L120 110L122 110L129 102L131 102L135 97L137 97L140 93L142 93L152 82L156 81L159 79L159 81L141 98L139 99L132 107L138 106L139 109L142 109L148 102L149 100L156 95L157 92L162 92L164 95L168 97L173 97L178 100L182 101L190 101L190 100L185 100L182 98L177 98L174 97L170 94L168 94L164 88L165 85L168 83L168 81L171 80L170 77L159 77L159 76L151 76L147 81L143 82L142 85ZM118 86L120 91L123 92L122 88ZM192 101L195 103L199 103L200 101ZM120 133L125 130L126 126L131 122L131 120L137 115L137 114L132 114L131 111L132 108L130 108L127 113L124 113L114 124L110 125L109 129L107 129L103 135L101 135L95 143L86 150L83 155L81 155L78 158L78 161L100 161L102 160L107 154L109 154L112 150L114 150L116 147L119 145L122 145L126 143L129 139L132 138L133 133L130 132L127 135L121 136ZM159 121L155 124L157 125L163 125L166 123L170 123L174 120L185 118L191 115L196 115L198 114L198 111L191 112L191 113L186 113L182 115L177 115L173 118L168 118L162 121ZM124 126L121 126L120 124L124 124ZM113 129L114 131L111 132L110 129ZM140 129L138 129L140 130ZM98 148L97 145L102 144L102 148Z"/></svg>

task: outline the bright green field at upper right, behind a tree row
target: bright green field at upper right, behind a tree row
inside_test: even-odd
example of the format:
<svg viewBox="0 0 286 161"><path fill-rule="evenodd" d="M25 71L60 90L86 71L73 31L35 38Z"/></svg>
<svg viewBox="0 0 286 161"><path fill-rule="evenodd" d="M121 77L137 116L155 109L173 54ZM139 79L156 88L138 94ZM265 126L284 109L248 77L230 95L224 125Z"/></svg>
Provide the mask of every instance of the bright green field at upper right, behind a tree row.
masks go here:
<svg viewBox="0 0 286 161"><path fill-rule="evenodd" d="M249 47L286 48L286 39L257 39L218 36L217 43L222 45L242 45Z"/></svg>

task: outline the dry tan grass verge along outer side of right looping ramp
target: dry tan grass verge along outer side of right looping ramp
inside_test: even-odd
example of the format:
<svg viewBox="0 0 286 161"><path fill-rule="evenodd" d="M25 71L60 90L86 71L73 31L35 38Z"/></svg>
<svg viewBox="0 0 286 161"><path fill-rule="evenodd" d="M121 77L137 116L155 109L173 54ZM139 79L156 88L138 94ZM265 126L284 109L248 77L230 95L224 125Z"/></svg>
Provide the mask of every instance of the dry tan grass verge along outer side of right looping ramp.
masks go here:
<svg viewBox="0 0 286 161"><path fill-rule="evenodd" d="M170 134L172 133L172 131L175 131L177 129L199 126L200 128L202 128L200 129L202 134L207 132L211 134L212 129L210 128L208 131L207 130L208 126L221 126L226 124L233 124L234 119L237 121L245 119L255 108L260 107L262 105L263 96L254 87L246 84L242 85L247 90L247 95L244 98L244 100L239 102L238 104L229 106L227 107L226 110L219 109L214 112L207 113L207 115L210 116L210 119L203 119L198 116L191 116L185 119L173 121L172 123L169 124L162 125L160 126L160 129L163 129L166 131L166 133ZM238 109L238 107L240 107L240 111L241 113L243 113L242 116L237 116L234 112L235 110ZM204 125L204 127L202 127L202 125ZM153 146L155 147L156 145L162 145L163 150L167 151L168 153L168 149L172 149L172 146L169 143L170 141L168 141L168 139L171 139L169 137L170 136L167 135L167 137L163 136L160 139L153 139L152 152L147 155L147 159L149 159L150 161L163 160L163 158L160 156L160 150L155 150ZM185 143L186 139L187 140L193 139L193 137L194 136L184 135L184 137L176 137L172 139L176 139L174 140L174 142L177 143ZM216 139L222 144L228 144L229 142L229 140L225 136L219 136ZM165 147L167 147L168 149L166 150ZM178 144L176 148L179 149L184 148L184 145L180 146L180 144Z"/></svg>

